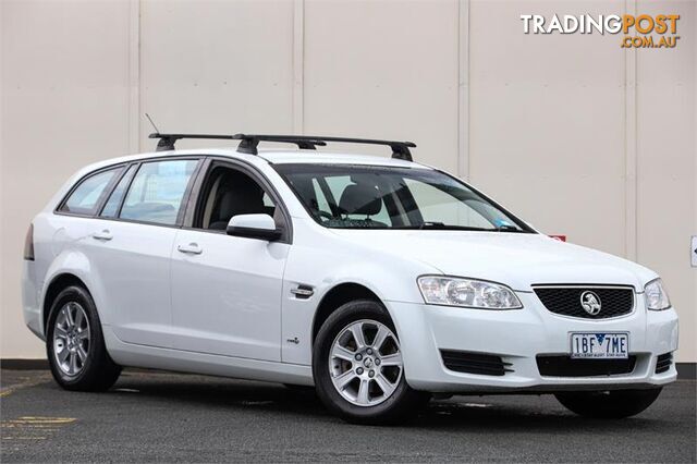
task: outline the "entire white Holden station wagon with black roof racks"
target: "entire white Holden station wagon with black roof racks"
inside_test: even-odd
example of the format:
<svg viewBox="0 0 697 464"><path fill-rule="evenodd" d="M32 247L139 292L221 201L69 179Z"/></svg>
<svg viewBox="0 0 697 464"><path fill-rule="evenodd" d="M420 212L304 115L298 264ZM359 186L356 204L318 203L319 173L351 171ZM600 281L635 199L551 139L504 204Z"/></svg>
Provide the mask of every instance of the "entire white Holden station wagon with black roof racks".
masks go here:
<svg viewBox="0 0 697 464"><path fill-rule="evenodd" d="M199 373L315 386L378 424L432 394L626 417L676 378L656 272L538 233L412 143L150 137L158 152L76 173L27 233L24 317L68 390L107 390L122 366ZM392 158L315 150L333 142Z"/></svg>

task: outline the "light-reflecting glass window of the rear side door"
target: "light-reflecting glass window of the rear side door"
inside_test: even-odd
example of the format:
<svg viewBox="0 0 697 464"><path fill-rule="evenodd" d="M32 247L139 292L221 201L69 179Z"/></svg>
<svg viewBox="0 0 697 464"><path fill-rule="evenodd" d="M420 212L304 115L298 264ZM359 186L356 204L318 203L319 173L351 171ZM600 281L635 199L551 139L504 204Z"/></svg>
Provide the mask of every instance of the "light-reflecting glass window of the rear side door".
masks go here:
<svg viewBox="0 0 697 464"><path fill-rule="evenodd" d="M197 160L146 162L135 174L119 217L174 225Z"/></svg>

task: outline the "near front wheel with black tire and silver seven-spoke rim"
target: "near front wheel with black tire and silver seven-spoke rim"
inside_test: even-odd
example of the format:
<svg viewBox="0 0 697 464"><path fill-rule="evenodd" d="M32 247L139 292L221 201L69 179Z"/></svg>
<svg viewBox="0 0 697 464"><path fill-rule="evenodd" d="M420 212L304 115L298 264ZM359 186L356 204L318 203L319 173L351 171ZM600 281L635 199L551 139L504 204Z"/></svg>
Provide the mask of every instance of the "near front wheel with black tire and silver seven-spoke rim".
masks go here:
<svg viewBox="0 0 697 464"><path fill-rule="evenodd" d="M362 345L356 343L352 327L362 331ZM384 329L390 332L387 337ZM384 338L380 346L375 346L378 334ZM334 353L344 357L332 354L337 343L340 347ZM325 321L314 344L313 375L322 403L355 424L399 423L414 415L430 398L406 383L394 325L384 307L369 300L346 303ZM342 379L347 382L340 390L334 381L343 383Z"/></svg>

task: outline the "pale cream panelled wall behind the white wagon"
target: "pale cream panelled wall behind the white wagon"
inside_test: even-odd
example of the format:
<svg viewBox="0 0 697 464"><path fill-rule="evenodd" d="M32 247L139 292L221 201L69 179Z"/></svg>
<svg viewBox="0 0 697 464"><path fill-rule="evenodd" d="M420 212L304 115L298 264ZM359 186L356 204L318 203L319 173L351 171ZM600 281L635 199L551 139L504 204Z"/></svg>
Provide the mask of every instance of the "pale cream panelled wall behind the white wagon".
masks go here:
<svg viewBox="0 0 697 464"><path fill-rule="evenodd" d="M521 14L677 13L673 50L524 35ZM661 273L697 361L696 3L12 1L2 38L0 355L32 216L81 166L163 131L414 139L539 229ZM182 143L181 146L196 146ZM371 151L370 149L368 149Z"/></svg>

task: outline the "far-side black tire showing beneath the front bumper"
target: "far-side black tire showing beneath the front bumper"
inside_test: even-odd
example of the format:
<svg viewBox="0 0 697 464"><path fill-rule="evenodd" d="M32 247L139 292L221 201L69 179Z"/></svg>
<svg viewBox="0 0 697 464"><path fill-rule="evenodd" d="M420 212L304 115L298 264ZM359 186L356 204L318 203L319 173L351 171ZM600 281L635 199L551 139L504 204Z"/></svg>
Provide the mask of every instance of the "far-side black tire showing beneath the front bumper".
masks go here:
<svg viewBox="0 0 697 464"><path fill-rule="evenodd" d="M564 407L580 416L621 419L645 411L653 404L661 390L580 391L555 393L554 396Z"/></svg>

